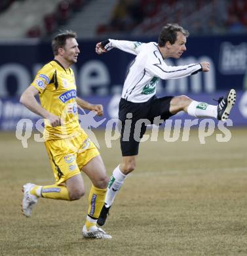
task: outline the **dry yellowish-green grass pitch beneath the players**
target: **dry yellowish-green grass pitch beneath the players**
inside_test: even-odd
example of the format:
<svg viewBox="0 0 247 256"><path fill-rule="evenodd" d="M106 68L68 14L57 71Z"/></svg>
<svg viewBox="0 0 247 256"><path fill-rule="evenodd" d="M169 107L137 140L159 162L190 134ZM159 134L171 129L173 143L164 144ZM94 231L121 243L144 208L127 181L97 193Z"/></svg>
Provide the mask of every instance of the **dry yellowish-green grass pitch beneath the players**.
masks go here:
<svg viewBox="0 0 247 256"><path fill-rule="evenodd" d="M87 194L77 202L41 198L31 218L20 213L22 185L52 184L45 146L14 133L0 134L0 255L247 255L246 129L231 129L229 142L216 133L200 144L143 142L138 167L124 182L104 228L112 240L81 236ZM119 141L100 152L111 172L121 161Z"/></svg>

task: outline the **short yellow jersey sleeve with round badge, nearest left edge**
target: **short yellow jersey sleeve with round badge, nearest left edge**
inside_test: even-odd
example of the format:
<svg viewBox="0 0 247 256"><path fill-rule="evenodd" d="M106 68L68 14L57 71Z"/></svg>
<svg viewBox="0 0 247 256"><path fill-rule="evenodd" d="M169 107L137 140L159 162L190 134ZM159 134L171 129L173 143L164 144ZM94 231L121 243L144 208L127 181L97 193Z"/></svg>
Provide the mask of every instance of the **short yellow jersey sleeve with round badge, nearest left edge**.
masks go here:
<svg viewBox="0 0 247 256"><path fill-rule="evenodd" d="M50 66L50 64L43 66L43 68L41 68L41 70L39 70L39 72L35 76L35 79L31 83L31 85L35 87L39 91L39 93L42 94L47 88L47 85L50 83L54 72L55 69L54 67Z"/></svg>

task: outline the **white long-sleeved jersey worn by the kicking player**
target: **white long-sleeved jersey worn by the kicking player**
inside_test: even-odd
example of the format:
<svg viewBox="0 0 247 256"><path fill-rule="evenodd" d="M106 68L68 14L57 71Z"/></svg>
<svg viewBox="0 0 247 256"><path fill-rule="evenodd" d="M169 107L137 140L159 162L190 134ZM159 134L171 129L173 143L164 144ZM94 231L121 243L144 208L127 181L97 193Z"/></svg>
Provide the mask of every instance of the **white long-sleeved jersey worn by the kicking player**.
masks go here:
<svg viewBox="0 0 247 256"><path fill-rule="evenodd" d="M130 102L146 102L156 94L161 79L175 79L192 75L202 69L199 63L185 66L167 66L157 43L140 43L109 39L109 51L113 47L132 53L136 58L130 65L124 81L122 98Z"/></svg>

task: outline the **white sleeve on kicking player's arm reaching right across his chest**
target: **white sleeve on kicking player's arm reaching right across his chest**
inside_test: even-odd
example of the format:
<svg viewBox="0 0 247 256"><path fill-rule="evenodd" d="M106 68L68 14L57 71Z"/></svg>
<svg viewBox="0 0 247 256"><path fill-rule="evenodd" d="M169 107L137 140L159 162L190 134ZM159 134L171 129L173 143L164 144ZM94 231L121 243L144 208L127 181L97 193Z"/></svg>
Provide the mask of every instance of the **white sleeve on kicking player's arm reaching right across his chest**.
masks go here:
<svg viewBox="0 0 247 256"><path fill-rule="evenodd" d="M153 56L147 58L145 68L153 76L158 76L161 79L177 79L202 71L202 66L199 63L184 66L168 66L155 52Z"/></svg>

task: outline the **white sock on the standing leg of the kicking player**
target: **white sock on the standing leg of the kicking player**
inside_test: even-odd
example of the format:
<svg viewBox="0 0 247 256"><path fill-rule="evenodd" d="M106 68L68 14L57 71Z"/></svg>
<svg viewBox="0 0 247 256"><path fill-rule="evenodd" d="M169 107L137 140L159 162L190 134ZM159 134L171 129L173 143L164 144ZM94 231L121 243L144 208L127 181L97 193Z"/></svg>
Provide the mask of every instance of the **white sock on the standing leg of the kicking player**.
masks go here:
<svg viewBox="0 0 247 256"><path fill-rule="evenodd" d="M111 175L111 179L109 181L107 192L105 195L105 207L110 207L114 201L117 192L123 185L124 179L126 175L124 175L119 169L119 165L114 169L113 174Z"/></svg>

